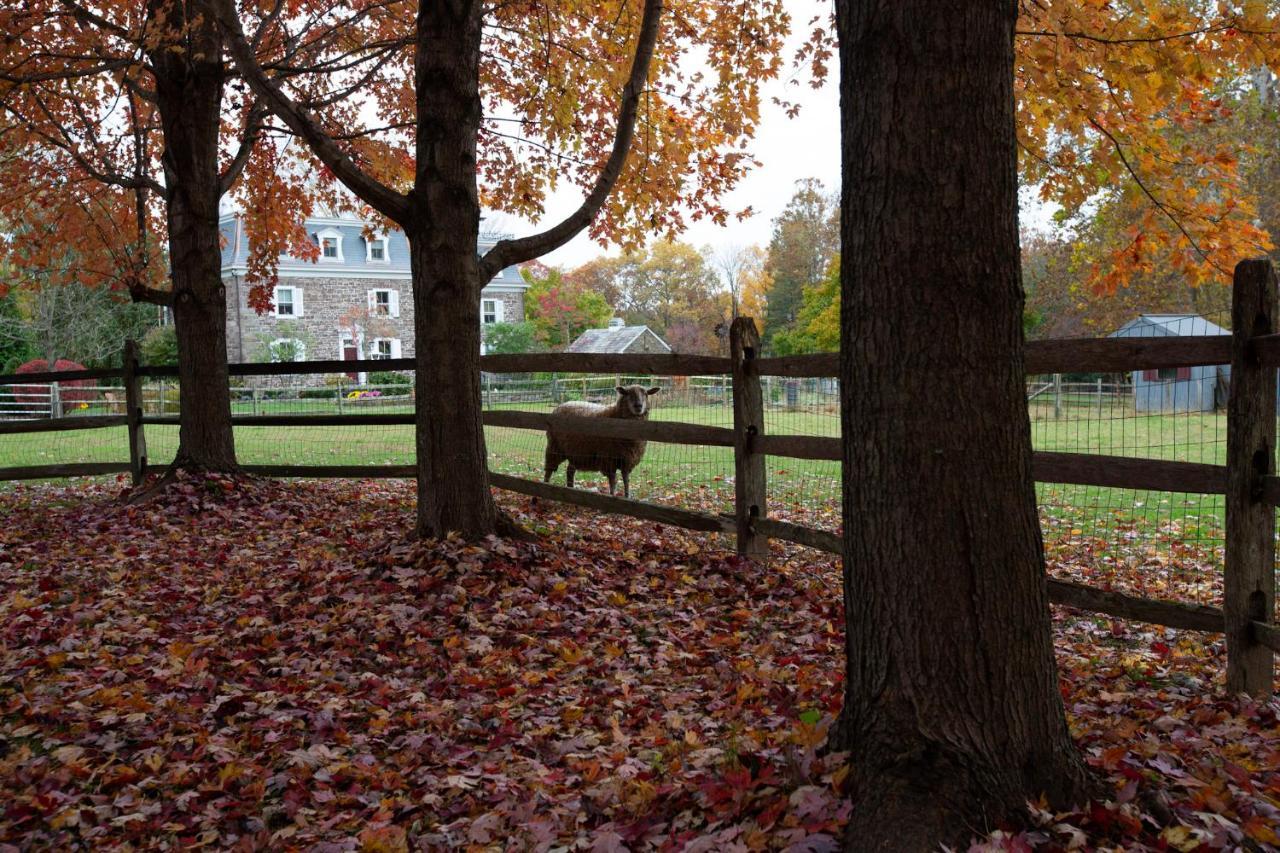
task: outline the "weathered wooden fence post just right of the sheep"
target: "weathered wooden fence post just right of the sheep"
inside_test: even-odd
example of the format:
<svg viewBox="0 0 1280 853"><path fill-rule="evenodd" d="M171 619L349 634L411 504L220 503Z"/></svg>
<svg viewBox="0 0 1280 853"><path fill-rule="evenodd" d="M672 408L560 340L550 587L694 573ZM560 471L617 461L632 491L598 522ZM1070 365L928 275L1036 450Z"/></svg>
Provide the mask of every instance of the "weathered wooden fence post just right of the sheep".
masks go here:
<svg viewBox="0 0 1280 853"><path fill-rule="evenodd" d="M755 452L755 437L764 433L764 394L756 356L760 333L749 316L735 318L730 327L730 359L733 370L733 515L737 521L737 552L762 564L769 556L769 538L755 533L753 521L768 515L764 455Z"/></svg>

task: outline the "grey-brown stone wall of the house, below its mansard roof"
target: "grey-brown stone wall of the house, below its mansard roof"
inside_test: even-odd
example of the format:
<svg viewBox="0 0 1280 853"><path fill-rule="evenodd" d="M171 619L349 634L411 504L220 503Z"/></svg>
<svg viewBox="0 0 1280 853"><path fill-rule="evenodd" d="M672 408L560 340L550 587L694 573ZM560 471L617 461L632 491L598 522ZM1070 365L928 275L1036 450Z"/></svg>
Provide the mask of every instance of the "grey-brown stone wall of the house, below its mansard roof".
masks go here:
<svg viewBox="0 0 1280 853"><path fill-rule="evenodd" d="M342 318L353 310L367 310L369 291L390 289L399 296L399 316L366 316L361 320L365 350L369 357L374 338L396 338L401 342L401 356L413 355L413 293L404 279L371 278L284 278L282 287L302 291L302 316L282 318L257 314L248 307L248 287L234 277L227 279L227 353L236 361L265 361L266 347L279 338L296 338L306 345L307 361L342 359L339 342L348 330ZM238 292L237 292L238 291ZM494 293L488 288L481 298L503 302L503 320L518 323L525 319L522 292Z"/></svg>

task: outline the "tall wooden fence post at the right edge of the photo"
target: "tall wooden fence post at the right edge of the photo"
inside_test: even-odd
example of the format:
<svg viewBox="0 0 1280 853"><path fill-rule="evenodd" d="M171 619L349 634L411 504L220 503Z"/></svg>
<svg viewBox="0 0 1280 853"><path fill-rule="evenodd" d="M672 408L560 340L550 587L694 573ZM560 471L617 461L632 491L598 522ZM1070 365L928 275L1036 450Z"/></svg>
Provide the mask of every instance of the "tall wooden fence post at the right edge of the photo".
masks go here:
<svg viewBox="0 0 1280 853"><path fill-rule="evenodd" d="M1276 371L1249 338L1276 330L1276 274L1266 259L1240 261L1231 292L1231 391L1226 406L1226 689L1271 695L1271 649L1249 622L1275 621L1275 507L1262 478L1275 473Z"/></svg>

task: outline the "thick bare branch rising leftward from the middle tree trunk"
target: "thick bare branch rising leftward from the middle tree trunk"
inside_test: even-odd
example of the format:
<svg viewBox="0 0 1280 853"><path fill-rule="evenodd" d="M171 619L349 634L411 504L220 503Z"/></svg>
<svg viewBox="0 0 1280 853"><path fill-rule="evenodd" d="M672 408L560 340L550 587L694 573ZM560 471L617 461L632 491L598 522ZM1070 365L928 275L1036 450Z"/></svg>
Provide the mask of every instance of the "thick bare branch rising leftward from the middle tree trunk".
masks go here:
<svg viewBox="0 0 1280 853"><path fill-rule="evenodd" d="M356 165L324 132L315 118L300 108L266 76L253 55L253 49L244 38L244 29L241 27L236 6L230 0L212 0L210 5L219 27L227 36L228 50L253 93L311 146L320 161L329 167L334 177L342 181L348 190L365 200L378 213L403 225L410 216L408 199Z"/></svg>

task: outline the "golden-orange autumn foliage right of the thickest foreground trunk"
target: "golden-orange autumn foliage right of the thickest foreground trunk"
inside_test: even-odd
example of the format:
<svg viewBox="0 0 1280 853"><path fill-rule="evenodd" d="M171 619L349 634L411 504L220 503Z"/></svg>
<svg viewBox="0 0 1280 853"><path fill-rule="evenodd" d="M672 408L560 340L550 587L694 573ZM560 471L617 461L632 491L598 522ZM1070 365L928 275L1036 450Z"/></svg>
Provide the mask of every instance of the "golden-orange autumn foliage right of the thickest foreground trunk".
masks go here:
<svg viewBox="0 0 1280 853"><path fill-rule="evenodd" d="M1096 289L1157 268L1226 283L1272 247L1242 179L1249 140L1206 128L1280 68L1277 32L1274 4L1254 0L1021 4L1023 175L1068 214L1102 204L1123 223L1088 259Z"/></svg>

